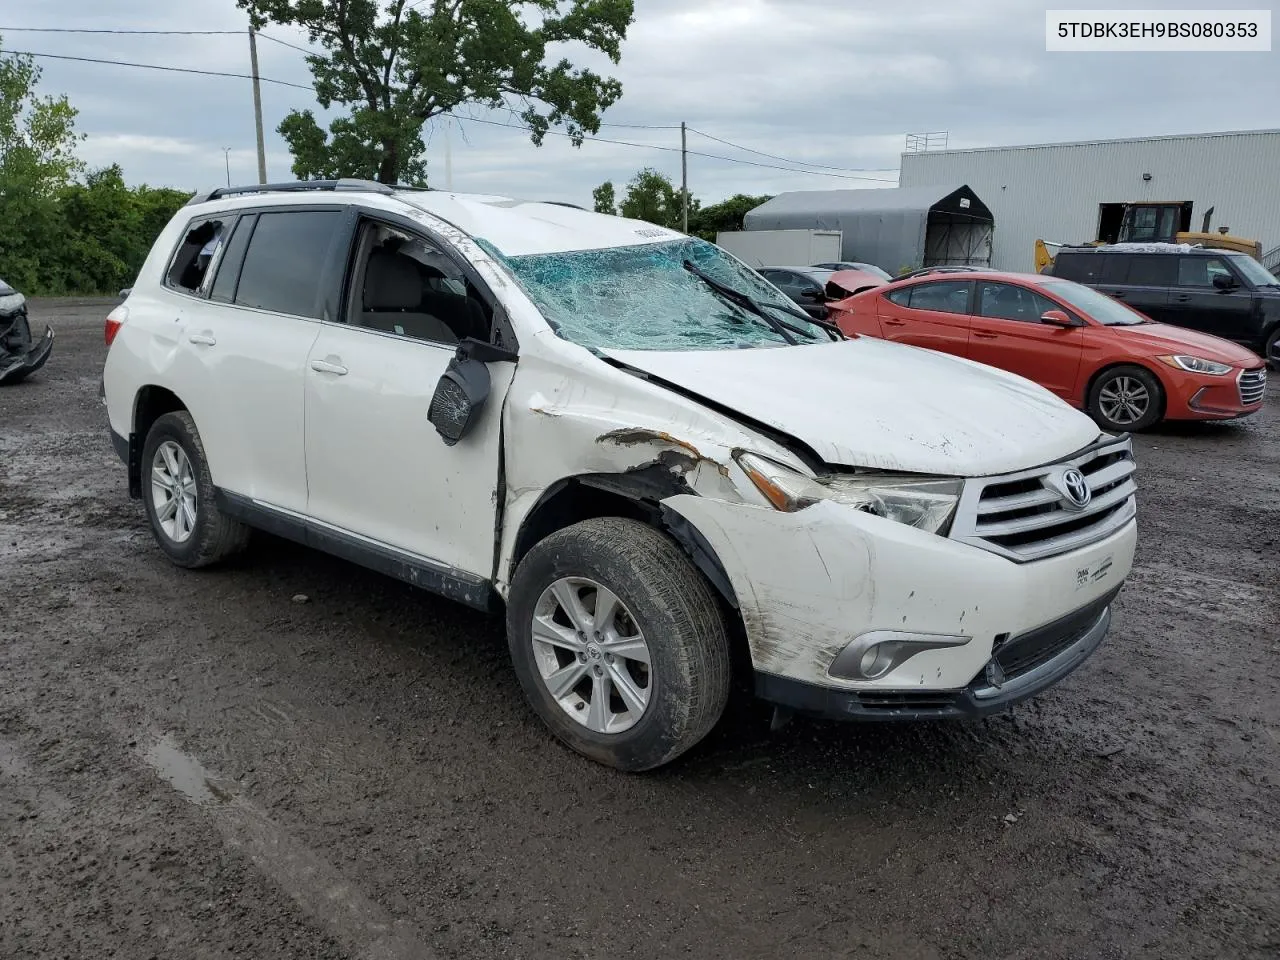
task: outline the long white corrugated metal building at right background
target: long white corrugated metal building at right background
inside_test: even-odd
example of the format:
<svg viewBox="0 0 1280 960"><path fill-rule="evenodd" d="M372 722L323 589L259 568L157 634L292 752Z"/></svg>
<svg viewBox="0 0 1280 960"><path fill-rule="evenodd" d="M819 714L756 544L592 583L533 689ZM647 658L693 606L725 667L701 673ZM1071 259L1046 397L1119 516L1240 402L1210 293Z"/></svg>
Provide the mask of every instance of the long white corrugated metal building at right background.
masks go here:
<svg viewBox="0 0 1280 960"><path fill-rule="evenodd" d="M1098 239L1106 205L1125 202L1190 202L1192 230L1212 207L1210 229L1280 247L1280 131L902 154L902 187L947 183L991 210L1001 270L1033 271L1037 239Z"/></svg>

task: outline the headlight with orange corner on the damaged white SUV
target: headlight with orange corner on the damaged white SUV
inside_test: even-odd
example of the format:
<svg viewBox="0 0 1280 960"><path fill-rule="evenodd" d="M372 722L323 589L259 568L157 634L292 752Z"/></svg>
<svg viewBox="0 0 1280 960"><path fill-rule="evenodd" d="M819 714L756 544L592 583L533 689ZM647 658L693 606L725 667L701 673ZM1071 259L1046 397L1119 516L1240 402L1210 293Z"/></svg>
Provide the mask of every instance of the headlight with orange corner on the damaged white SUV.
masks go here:
<svg viewBox="0 0 1280 960"><path fill-rule="evenodd" d="M963 481L913 474L805 476L754 453L737 454L739 466L777 509L794 513L833 500L931 534L951 522Z"/></svg>

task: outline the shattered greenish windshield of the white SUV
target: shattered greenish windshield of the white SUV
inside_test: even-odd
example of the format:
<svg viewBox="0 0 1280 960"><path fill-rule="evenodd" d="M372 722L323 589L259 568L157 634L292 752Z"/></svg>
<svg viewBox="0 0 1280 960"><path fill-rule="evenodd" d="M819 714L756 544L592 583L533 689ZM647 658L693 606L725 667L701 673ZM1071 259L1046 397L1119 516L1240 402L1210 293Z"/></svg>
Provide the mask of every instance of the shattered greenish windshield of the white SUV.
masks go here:
<svg viewBox="0 0 1280 960"><path fill-rule="evenodd" d="M719 247L692 237L637 247L502 257L552 328L588 348L787 346L783 333L717 293L685 268L686 260L797 328L799 343L829 343L817 324L809 323L759 274Z"/></svg>

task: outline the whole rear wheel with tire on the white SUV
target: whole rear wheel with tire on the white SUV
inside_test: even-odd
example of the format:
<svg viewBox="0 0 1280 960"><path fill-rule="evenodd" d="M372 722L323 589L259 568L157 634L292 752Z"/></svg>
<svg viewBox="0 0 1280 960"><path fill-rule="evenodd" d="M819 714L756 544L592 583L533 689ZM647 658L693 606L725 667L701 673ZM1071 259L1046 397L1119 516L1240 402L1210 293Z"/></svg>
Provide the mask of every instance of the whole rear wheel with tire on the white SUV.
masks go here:
<svg viewBox="0 0 1280 960"><path fill-rule="evenodd" d="M180 451L180 457L175 448ZM189 467L187 471L182 470L183 458ZM178 470L173 468L174 463ZM168 488L166 495L163 495L165 488L157 483L161 468L170 479L184 480ZM183 497L189 498L188 509L165 509L178 499L175 493L179 485ZM248 544L250 529L225 516L214 502L214 481L205 445L200 442L196 421L184 410L165 413L147 431L142 445L142 504L156 543L179 567L207 567L239 553Z"/></svg>

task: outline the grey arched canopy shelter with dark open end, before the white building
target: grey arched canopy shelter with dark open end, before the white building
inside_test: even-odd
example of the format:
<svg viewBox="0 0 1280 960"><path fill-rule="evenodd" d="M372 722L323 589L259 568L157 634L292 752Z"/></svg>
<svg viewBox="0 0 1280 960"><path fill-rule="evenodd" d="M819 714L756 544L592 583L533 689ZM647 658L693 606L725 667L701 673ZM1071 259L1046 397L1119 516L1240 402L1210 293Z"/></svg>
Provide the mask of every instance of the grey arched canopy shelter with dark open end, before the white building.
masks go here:
<svg viewBox="0 0 1280 960"><path fill-rule="evenodd" d="M748 230L840 230L842 260L890 273L989 266L996 229L991 210L966 186L780 193L748 212L742 224Z"/></svg>

